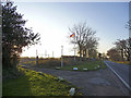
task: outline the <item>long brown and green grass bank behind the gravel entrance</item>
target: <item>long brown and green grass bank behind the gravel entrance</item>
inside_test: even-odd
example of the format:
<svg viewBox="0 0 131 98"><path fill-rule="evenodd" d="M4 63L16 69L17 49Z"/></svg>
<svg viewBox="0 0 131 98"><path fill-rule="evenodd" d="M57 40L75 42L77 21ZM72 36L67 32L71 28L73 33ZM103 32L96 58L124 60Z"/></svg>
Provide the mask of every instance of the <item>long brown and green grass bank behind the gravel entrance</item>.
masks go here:
<svg viewBox="0 0 131 98"><path fill-rule="evenodd" d="M36 61L24 61L23 65L36 66ZM99 69L106 69L107 66L103 61L99 60L86 60L86 61L75 61L73 59L63 59L63 68L61 68L60 59L49 59L49 60L39 60L38 68L44 69L58 69L58 70L70 70L73 68L78 68L78 71L83 71L83 69L87 69L87 71L95 71Z"/></svg>

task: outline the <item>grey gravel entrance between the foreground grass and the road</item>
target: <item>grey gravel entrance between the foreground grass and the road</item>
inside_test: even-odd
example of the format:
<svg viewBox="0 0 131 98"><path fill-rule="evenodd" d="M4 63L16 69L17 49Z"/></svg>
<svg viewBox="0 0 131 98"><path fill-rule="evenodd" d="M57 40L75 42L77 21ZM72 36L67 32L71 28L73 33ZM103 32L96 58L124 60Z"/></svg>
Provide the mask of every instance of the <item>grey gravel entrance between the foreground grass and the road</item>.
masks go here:
<svg viewBox="0 0 131 98"><path fill-rule="evenodd" d="M84 96L128 96L129 91L119 78L109 70L88 72L61 71L32 68L55 76L61 76L71 84L80 87Z"/></svg>

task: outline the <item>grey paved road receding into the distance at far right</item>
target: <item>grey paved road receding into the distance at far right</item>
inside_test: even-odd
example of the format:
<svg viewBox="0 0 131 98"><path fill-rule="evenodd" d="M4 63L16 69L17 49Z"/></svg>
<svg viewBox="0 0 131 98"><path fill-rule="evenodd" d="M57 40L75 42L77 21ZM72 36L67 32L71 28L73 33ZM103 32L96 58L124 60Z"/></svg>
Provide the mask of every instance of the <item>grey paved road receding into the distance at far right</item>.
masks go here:
<svg viewBox="0 0 131 98"><path fill-rule="evenodd" d="M131 65L115 63L111 61L104 61L105 64L120 78L120 81L131 90L131 85L129 81L129 71Z"/></svg>

